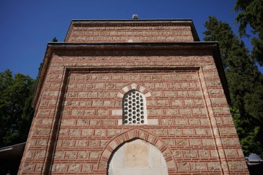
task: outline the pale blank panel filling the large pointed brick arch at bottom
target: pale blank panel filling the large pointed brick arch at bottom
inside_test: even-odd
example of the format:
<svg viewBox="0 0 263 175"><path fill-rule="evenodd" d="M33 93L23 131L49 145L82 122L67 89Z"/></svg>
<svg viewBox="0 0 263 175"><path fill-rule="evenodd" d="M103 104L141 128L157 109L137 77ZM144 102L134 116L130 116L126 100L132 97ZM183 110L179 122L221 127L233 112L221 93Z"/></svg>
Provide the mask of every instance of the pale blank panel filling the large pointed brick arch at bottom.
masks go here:
<svg viewBox="0 0 263 175"><path fill-rule="evenodd" d="M125 142L111 155L108 175L158 174L167 175L167 165L161 151L144 140Z"/></svg>

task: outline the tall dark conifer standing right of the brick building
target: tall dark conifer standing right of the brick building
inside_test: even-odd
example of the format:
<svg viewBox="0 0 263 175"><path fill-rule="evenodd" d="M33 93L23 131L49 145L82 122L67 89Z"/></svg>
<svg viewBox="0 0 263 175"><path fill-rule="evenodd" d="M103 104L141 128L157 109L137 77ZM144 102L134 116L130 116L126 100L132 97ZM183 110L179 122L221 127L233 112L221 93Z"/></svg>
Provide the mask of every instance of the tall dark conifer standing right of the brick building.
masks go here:
<svg viewBox="0 0 263 175"><path fill-rule="evenodd" d="M262 154L263 76L228 24L209 17L204 26L203 40L219 42L242 149L245 154Z"/></svg>

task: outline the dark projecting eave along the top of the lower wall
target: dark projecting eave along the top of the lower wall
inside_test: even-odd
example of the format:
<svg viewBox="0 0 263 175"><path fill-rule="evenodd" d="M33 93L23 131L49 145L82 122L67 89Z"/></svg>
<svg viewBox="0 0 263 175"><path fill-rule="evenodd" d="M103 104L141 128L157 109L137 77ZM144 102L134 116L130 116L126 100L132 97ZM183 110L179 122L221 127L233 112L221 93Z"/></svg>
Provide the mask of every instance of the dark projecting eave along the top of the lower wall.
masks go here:
<svg viewBox="0 0 263 175"><path fill-rule="evenodd" d="M64 51L63 51L64 50ZM44 84L44 80L50 66L51 57L53 53L66 54L67 51L77 50L78 53L86 54L89 50L142 50L140 54L150 55L152 50L211 50L208 55L212 55L215 59L217 71L228 100L230 104L230 95L228 92L228 85L226 82L226 75L224 73L224 67L221 62L221 55L219 50L219 44L217 42L175 42L175 43L115 43L115 44L76 44L76 43L48 43L46 47L46 54L43 61L42 69L39 73L39 79L35 89L35 95L33 100L33 107L36 107L39 94ZM80 52L79 52L80 51ZM173 54L173 52L170 52ZM153 53L156 54L156 53ZM179 53L180 54L180 53ZM197 53L194 53L197 54ZM89 54L88 54L89 55ZM197 54L198 55L198 54ZM114 55L112 55L114 56ZM140 55L138 55L140 56ZM156 55L158 56L158 54Z"/></svg>

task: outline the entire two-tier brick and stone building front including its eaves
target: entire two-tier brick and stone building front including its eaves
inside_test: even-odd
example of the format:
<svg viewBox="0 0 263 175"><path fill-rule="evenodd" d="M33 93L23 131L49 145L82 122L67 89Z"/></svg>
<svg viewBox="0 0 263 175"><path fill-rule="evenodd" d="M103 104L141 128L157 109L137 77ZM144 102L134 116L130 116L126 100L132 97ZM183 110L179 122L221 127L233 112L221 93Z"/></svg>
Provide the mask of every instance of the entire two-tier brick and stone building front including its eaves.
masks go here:
<svg viewBox="0 0 263 175"><path fill-rule="evenodd" d="M145 124L124 122L131 91ZM107 174L138 139L168 174L248 174L229 101L219 46L192 21L72 21L48 44L19 174Z"/></svg>

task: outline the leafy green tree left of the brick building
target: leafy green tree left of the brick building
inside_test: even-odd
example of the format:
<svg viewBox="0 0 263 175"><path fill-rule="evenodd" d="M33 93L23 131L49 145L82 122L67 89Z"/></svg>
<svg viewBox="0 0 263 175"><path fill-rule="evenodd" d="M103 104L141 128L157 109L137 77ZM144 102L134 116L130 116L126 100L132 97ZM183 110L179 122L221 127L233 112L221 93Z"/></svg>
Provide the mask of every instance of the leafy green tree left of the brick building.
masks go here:
<svg viewBox="0 0 263 175"><path fill-rule="evenodd" d="M25 142L33 117L35 80L6 70L0 73L0 147Z"/></svg>

